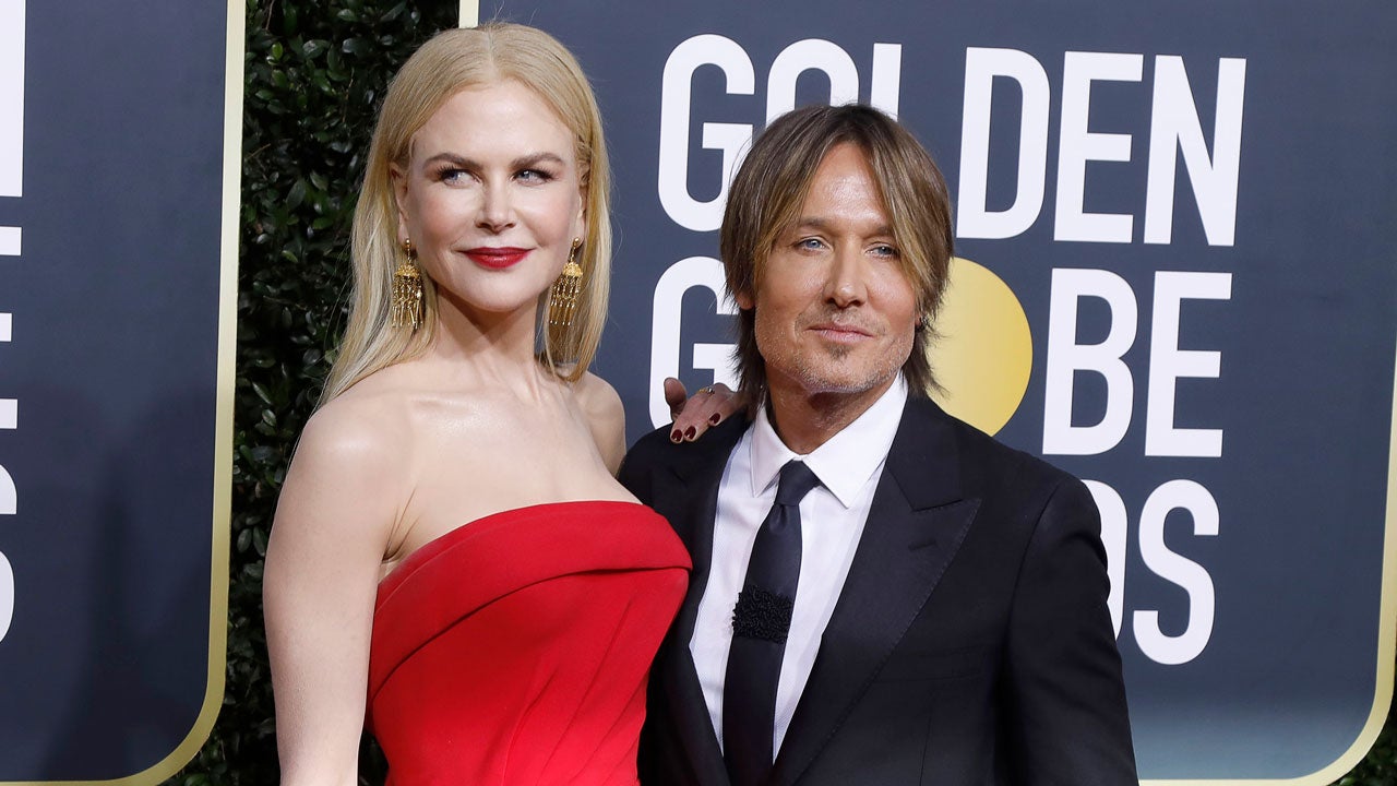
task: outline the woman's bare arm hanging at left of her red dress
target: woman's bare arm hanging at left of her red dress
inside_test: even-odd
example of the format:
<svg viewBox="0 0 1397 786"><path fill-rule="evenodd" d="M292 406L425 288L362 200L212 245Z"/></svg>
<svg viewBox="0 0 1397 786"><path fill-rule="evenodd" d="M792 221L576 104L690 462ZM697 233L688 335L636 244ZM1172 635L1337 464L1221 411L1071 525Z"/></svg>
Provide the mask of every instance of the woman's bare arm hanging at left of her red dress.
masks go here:
<svg viewBox="0 0 1397 786"><path fill-rule="evenodd" d="M307 422L267 545L263 600L286 786L358 783L373 603L405 499L387 459L401 459L401 446L360 415L331 404Z"/></svg>

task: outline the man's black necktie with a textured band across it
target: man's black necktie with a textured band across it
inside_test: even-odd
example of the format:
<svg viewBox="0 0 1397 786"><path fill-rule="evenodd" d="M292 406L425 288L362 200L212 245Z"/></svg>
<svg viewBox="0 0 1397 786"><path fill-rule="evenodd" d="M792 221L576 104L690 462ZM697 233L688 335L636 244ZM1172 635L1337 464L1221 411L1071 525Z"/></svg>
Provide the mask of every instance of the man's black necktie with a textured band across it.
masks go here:
<svg viewBox="0 0 1397 786"><path fill-rule="evenodd" d="M777 683L800 579L800 499L820 478L803 462L781 467L777 501L757 530L747 580L732 610L732 649L722 685L724 759L732 786L756 786L771 769Z"/></svg>

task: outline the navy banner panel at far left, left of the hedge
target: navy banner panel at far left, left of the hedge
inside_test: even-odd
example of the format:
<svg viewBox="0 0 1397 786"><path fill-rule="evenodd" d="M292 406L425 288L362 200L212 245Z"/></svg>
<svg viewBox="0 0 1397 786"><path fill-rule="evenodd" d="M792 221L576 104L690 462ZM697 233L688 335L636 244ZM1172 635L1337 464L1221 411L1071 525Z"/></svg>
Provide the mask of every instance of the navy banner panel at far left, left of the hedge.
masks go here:
<svg viewBox="0 0 1397 786"><path fill-rule="evenodd" d="M222 699L243 13L0 0L0 783Z"/></svg>

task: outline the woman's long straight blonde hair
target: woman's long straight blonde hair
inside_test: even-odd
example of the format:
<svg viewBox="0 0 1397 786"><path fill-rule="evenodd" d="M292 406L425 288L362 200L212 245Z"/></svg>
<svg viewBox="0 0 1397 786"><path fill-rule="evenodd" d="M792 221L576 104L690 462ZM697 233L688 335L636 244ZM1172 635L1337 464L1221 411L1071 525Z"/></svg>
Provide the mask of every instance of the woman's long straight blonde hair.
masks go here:
<svg viewBox="0 0 1397 786"><path fill-rule="evenodd" d="M471 87L507 80L538 94L577 141L577 173L587 214L577 256L584 284L571 326L543 327L541 362L567 380L578 379L591 365L610 294L610 171L601 112L577 60L553 36L525 25L492 22L437 34L408 59L388 85L353 215L349 324L320 396L321 404L376 371L420 355L432 343L437 296L426 274L422 276L422 327L393 327L388 319L393 271L401 253L391 168L408 165L412 136L448 98ZM539 296L545 323L548 298L548 292Z"/></svg>

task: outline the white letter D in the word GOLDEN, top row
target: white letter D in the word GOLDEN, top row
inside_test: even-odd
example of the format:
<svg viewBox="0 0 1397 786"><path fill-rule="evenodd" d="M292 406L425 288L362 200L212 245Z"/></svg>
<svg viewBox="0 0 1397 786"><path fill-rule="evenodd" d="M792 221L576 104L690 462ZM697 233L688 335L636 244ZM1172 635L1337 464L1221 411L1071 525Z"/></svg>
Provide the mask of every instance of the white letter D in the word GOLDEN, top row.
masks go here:
<svg viewBox="0 0 1397 786"><path fill-rule="evenodd" d="M990 211L989 115L995 77L1007 77L1023 92L1018 126L1018 189L1014 204ZM1032 227L1048 179L1048 73L1017 49L965 49L965 101L961 110L961 168L956 232L961 238L1013 238Z"/></svg>

